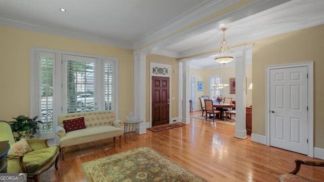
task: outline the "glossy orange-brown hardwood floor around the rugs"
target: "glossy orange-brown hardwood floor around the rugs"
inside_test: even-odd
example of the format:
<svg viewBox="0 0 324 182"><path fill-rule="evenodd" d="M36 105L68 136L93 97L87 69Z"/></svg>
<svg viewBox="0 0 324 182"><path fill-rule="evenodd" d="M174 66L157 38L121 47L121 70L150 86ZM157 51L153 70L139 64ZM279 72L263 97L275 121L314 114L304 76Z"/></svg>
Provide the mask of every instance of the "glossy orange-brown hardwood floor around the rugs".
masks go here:
<svg viewBox="0 0 324 182"><path fill-rule="evenodd" d="M52 167L41 175L41 181L86 181L83 162L141 146L153 148L208 181L277 181L278 175L295 168L296 159L319 160L254 143L250 137L234 138L234 129L232 125L193 118L183 127L146 130L137 141L123 138L121 148L114 148L112 139L69 147L65 149L65 161L59 162L59 170ZM324 180L324 167L302 166L297 175Z"/></svg>

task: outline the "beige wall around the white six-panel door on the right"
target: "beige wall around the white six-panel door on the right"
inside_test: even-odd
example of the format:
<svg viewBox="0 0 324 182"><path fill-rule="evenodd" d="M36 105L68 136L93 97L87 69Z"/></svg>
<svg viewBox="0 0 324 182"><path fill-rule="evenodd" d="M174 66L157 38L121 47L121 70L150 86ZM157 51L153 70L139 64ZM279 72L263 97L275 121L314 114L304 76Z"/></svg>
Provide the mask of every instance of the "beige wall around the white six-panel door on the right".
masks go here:
<svg viewBox="0 0 324 182"><path fill-rule="evenodd" d="M266 66L313 61L314 146L324 148L324 25L257 40L252 54L252 132L265 135Z"/></svg>

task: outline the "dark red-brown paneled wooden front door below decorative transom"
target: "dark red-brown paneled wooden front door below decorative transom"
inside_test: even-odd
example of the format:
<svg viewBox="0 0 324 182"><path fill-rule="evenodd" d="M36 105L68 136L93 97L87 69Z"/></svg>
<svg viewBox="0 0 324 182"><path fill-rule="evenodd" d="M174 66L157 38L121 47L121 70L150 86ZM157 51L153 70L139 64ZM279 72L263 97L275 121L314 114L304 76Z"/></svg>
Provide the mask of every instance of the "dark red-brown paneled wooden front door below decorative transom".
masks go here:
<svg viewBox="0 0 324 182"><path fill-rule="evenodd" d="M169 124L169 77L152 77L152 126Z"/></svg>

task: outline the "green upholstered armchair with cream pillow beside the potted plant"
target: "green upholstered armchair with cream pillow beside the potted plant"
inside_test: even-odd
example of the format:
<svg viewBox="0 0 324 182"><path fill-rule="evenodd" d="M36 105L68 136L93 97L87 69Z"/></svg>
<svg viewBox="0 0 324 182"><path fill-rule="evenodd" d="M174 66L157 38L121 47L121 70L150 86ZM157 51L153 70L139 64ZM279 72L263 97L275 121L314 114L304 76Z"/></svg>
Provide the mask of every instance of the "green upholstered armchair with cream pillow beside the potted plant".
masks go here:
<svg viewBox="0 0 324 182"><path fill-rule="evenodd" d="M10 124L7 121L0 121L0 141L15 143ZM27 139L33 149L24 155L8 156L8 173L27 173L28 178L39 181L39 175L51 168L55 163L58 170L59 148L58 146L49 147L47 140Z"/></svg>

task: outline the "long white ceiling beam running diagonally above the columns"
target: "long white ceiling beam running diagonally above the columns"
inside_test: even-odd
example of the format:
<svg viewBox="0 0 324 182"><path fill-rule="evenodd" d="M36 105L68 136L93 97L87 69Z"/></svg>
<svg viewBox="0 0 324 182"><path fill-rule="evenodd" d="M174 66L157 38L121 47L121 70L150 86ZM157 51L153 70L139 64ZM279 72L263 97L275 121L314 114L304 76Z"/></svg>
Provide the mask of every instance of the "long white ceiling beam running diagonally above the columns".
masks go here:
<svg viewBox="0 0 324 182"><path fill-rule="evenodd" d="M282 3L289 2L290 0L278 0L278 1L269 1L269 0L258 0L253 1L252 3L249 3L245 6L242 6L236 10L230 11L228 13L223 14L222 16L217 16L214 18L211 18L210 20L206 20L205 22L198 24L195 27L188 28L187 30L184 30L182 32L179 32L173 36L167 37L166 39L163 39L161 41L158 41L156 43L153 43L152 45L148 45L145 47L145 45L142 45L142 47L145 47L141 49L141 51L150 53L160 50L161 48L176 43L179 40L184 40L186 38L198 35L200 33L215 29L217 27L221 27L227 24L230 24L234 21L240 20L242 18L246 18L248 16L251 16L253 14L262 12L264 10L267 10L269 8L278 6ZM215 11L215 7L214 7ZM170 32L171 34L172 32ZM161 38L161 36L156 37ZM156 39L152 40L151 42L155 41ZM138 45L139 46L139 45ZM192 55L192 54L191 54ZM178 55L177 58L184 57L182 55Z"/></svg>

